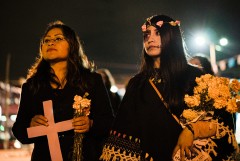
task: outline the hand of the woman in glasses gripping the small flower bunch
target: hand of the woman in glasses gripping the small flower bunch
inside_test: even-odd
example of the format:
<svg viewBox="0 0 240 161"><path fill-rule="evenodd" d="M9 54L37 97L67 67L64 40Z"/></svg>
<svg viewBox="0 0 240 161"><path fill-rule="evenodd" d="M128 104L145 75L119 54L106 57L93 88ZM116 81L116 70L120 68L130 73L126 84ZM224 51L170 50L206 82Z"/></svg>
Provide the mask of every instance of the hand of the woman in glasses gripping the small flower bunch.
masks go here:
<svg viewBox="0 0 240 161"><path fill-rule="evenodd" d="M80 116L77 118L73 118L73 127L74 127L74 132L79 132L79 133L88 132L92 127L92 120L90 120L87 116Z"/></svg>

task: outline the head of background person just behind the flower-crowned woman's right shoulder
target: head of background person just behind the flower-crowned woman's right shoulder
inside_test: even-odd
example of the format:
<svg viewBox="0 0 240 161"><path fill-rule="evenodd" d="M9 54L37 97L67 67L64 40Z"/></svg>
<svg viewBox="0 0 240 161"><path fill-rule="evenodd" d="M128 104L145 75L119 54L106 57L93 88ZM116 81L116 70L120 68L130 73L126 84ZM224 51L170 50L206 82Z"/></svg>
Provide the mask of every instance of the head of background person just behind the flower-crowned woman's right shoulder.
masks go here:
<svg viewBox="0 0 240 161"><path fill-rule="evenodd" d="M196 65L200 68L205 74L214 75L211 62L209 59L204 55L195 55L189 59L189 63Z"/></svg>

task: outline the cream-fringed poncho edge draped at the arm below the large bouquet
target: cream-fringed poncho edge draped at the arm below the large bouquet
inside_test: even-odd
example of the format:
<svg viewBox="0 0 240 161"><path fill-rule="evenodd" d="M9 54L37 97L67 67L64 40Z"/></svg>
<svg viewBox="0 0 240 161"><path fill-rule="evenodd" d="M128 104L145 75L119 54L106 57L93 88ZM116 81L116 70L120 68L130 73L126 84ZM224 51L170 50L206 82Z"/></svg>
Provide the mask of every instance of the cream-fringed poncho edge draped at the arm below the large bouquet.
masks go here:
<svg viewBox="0 0 240 161"><path fill-rule="evenodd" d="M209 126L201 125L203 124L194 125L194 136L195 132L197 132L196 137L198 139L193 141L194 146L191 159L199 161L236 161L236 154L239 152L239 148L233 130L218 119L211 120ZM203 138L201 135L206 135L213 125L217 127L216 135ZM201 134L198 132L199 129L201 129ZM174 161L179 160L176 158L178 157L175 157Z"/></svg>

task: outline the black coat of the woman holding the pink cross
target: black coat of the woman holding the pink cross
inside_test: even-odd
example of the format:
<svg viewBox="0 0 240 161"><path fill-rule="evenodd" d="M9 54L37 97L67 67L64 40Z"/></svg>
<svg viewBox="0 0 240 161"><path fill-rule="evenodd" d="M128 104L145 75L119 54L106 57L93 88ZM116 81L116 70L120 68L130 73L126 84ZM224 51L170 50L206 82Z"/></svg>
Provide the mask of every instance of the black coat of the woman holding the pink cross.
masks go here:
<svg viewBox="0 0 240 161"><path fill-rule="evenodd" d="M93 86L89 91L78 90L75 87L71 87L68 83L64 89L52 89L49 84L48 87L40 88L40 90L33 95L33 92L29 88L29 82L23 84L19 111L12 131L21 143L34 143L32 161L51 160L47 137L41 136L29 139L27 135L27 128L30 127L31 119L35 115L43 115L43 101L53 101L55 122L70 120L74 114L72 107L74 96L83 96L85 92L89 93L87 98L91 100L89 118L93 120L93 126L89 132L85 133L83 140L83 157L84 161L98 160L102 150L102 144L108 136L113 115L101 76L90 73L88 78L88 82L93 82ZM70 161L74 131L61 132L58 136L63 160Z"/></svg>

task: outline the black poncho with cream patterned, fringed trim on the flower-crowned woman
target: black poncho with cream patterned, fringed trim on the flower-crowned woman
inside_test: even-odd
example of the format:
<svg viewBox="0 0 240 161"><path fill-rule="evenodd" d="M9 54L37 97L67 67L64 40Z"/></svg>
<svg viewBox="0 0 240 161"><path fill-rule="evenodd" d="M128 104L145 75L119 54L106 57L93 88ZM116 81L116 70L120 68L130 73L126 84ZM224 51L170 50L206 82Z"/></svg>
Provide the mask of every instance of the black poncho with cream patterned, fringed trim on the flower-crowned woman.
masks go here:
<svg viewBox="0 0 240 161"><path fill-rule="evenodd" d="M194 71L190 68L188 74L184 76L187 82L184 93L191 94L193 91L197 76ZM116 132L111 132L105 143L101 160L172 160L172 153L182 132L182 126L166 109L148 80L149 77L140 73L129 81L112 128ZM156 87L164 97L163 84L164 81L156 84ZM180 104L178 107L185 106ZM178 114L179 117L181 113L176 111L174 114ZM215 111L212 121L217 125L216 136L201 141L195 140L196 149L205 152L209 156L209 161L236 161L237 143L232 131L234 129L232 115L220 110ZM211 126L206 127L206 132L209 128ZM136 138L140 138L141 141Z"/></svg>

